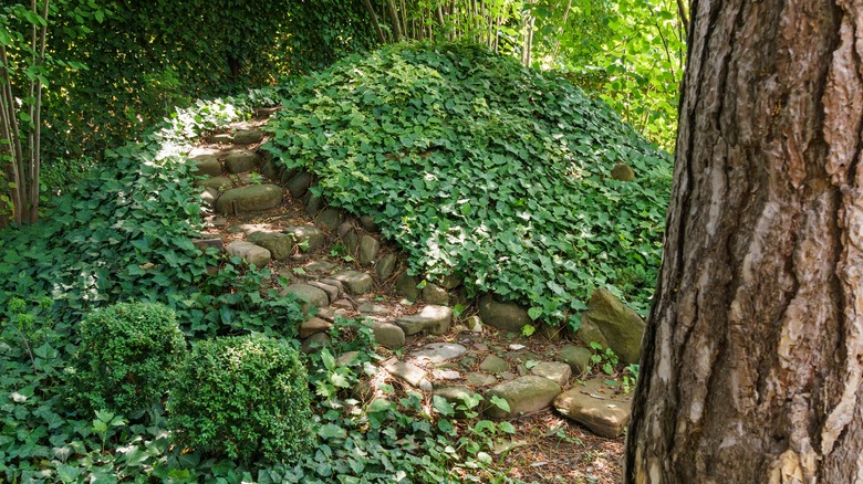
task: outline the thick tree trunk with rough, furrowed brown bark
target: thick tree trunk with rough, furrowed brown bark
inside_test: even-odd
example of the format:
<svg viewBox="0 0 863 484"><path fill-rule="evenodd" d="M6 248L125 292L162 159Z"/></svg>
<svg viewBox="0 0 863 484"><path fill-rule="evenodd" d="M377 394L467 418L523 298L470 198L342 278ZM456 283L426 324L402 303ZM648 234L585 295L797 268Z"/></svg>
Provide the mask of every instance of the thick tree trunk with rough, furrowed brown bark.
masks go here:
<svg viewBox="0 0 863 484"><path fill-rule="evenodd" d="M690 27L626 482L863 482L863 1Z"/></svg>

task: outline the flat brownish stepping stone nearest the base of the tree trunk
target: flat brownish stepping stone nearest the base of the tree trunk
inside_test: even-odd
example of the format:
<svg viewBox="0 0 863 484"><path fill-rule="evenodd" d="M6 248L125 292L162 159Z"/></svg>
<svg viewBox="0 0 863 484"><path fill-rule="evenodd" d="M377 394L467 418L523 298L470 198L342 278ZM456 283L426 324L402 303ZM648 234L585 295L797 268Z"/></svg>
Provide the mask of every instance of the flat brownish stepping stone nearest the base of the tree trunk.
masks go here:
<svg viewBox="0 0 863 484"><path fill-rule="evenodd" d="M632 397L620 394L601 379L585 381L554 399L554 408L593 433L614 439L623 433L632 414Z"/></svg>

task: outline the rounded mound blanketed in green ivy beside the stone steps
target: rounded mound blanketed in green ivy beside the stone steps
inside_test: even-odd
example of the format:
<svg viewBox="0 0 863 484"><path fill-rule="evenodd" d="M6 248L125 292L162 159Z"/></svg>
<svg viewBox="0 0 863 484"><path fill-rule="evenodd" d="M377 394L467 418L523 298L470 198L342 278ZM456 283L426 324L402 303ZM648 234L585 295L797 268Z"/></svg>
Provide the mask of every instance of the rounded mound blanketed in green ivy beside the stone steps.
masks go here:
<svg viewBox="0 0 863 484"><path fill-rule="evenodd" d="M461 44L385 48L290 93L269 149L373 215L414 273L454 272L549 322L599 286L646 309L670 160L605 104ZM634 181L611 177L618 162Z"/></svg>

